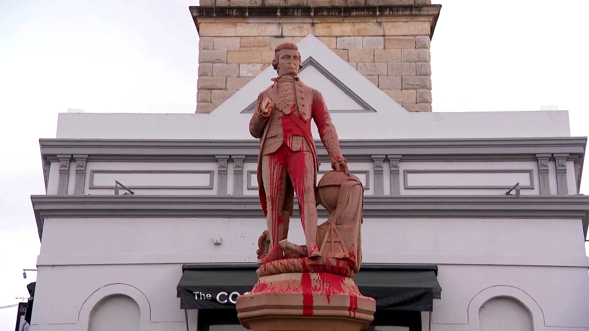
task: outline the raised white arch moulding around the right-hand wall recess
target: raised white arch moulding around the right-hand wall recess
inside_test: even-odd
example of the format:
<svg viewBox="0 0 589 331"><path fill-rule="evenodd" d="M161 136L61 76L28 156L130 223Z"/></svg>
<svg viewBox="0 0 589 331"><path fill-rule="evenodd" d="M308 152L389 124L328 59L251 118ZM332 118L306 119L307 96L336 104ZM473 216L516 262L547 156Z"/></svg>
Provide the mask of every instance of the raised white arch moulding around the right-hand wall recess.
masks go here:
<svg viewBox="0 0 589 331"><path fill-rule="evenodd" d="M485 302L505 297L516 300L519 304L524 306L525 309L529 310L534 325L534 331L545 329L544 312L542 312L538 303L532 299L530 294L525 293L517 287L507 285L487 287L487 289L482 290L472 298L471 302L468 304L468 325L470 329L473 331L481 331L479 328L479 309L481 309L481 306Z"/></svg>

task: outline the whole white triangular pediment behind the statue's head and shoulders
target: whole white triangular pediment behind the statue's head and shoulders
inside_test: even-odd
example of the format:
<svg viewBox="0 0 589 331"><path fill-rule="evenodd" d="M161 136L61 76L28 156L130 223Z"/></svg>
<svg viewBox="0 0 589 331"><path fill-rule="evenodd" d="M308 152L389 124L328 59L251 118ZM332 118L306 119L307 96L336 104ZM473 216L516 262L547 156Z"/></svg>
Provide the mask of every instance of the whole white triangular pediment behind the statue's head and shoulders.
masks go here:
<svg viewBox="0 0 589 331"><path fill-rule="evenodd" d="M407 114L401 105L315 36L307 35L297 46L303 60L301 80L321 92L329 112ZM269 66L209 115L227 117L252 113L257 95L272 85L274 77L276 70Z"/></svg>

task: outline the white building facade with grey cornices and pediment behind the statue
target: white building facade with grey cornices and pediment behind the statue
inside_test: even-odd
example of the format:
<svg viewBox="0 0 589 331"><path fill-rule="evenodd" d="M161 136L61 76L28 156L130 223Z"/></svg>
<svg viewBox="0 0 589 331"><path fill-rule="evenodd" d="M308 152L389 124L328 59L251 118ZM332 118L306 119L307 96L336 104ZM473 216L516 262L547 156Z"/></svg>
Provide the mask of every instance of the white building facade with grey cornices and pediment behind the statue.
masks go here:
<svg viewBox="0 0 589 331"><path fill-rule="evenodd" d="M313 35L299 49L365 186L358 277L386 272L379 286L402 296L396 279L434 275L408 294L431 309L382 303L370 330L589 330L587 138L570 137L566 111L407 112ZM255 283L266 227L247 124L274 75L210 114L59 114L40 142L47 194L32 196L32 330L240 330L230 289ZM226 309L182 309L189 272Z"/></svg>

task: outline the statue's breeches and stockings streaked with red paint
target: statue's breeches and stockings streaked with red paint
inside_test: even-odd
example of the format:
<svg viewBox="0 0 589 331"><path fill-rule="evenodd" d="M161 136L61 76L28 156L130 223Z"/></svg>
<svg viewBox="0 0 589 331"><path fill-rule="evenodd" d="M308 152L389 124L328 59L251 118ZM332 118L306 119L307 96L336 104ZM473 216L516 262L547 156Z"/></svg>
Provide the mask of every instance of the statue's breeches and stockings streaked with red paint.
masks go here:
<svg viewBox="0 0 589 331"><path fill-rule="evenodd" d="M315 245L317 233L317 206L315 203L315 162L313 153L292 151L285 144L262 156L262 180L266 191L267 226L270 234L270 251L279 250L278 243L286 239L288 221L282 210L286 195L286 174L292 181L300 204L301 222L307 247Z"/></svg>

